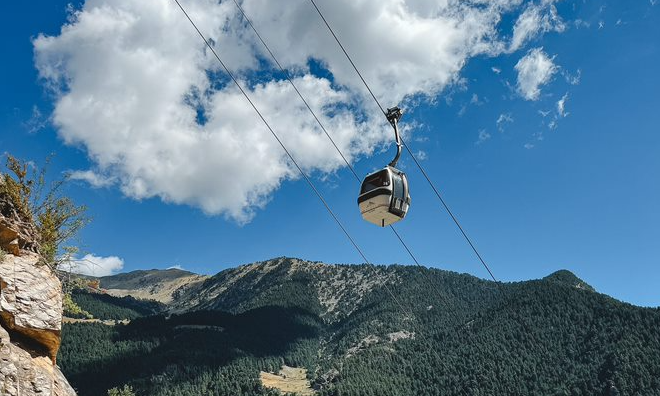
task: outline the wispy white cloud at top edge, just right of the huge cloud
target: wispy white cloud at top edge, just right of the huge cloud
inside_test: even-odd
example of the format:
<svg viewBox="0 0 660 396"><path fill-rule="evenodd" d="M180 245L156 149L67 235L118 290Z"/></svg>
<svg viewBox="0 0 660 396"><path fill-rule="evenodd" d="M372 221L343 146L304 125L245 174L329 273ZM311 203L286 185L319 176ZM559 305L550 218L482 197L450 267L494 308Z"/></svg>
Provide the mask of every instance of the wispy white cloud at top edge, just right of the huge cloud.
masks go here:
<svg viewBox="0 0 660 396"><path fill-rule="evenodd" d="M527 6L513 27L510 52L517 51L539 34L549 31L563 32L566 29L553 3L554 0L546 0L540 4L532 3Z"/></svg>

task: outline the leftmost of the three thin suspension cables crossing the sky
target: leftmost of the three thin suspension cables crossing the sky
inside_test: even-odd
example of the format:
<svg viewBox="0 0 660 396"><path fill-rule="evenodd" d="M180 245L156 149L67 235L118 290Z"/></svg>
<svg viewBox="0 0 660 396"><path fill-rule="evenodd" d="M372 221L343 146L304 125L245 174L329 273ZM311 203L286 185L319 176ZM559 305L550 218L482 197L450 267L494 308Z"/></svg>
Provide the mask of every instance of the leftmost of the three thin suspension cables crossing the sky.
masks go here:
<svg viewBox="0 0 660 396"><path fill-rule="evenodd" d="M204 43L206 44L206 46L211 50L211 52L213 53L213 55L215 56L215 58L218 60L218 62L220 62L220 65L222 65L222 68L225 70L225 72L227 73L227 75L231 78L231 80L234 82L234 84L236 85L236 87L237 87L237 88L239 89L239 91L243 94L243 96L245 97L245 99L248 101L248 103L250 104L250 106L252 107L252 109L257 113L257 115L259 116L259 118L261 119L261 121L264 123L264 125L266 126L266 128L268 128L268 130L269 130L270 133L273 135L273 137L275 138L275 140L277 140L277 143L279 143L279 145L282 147L282 149L284 150L284 152L286 153L286 155L289 157L289 159L291 160L291 162L296 166L296 168L297 168L298 171L300 172L300 175L305 179L305 181L307 182L307 184L309 185L309 187L314 191L314 193L316 194L316 196L317 196L317 197L319 198L319 200L323 203L323 206L325 206L325 208L326 208L326 210L328 211L328 213L330 214L330 216L332 216L332 218L335 220L335 222L337 223L337 225L339 226L339 228L341 228L341 230L344 232L344 235L346 235L346 237L347 237L348 240L351 242L351 244L353 245L353 247L355 248L355 250L360 254L360 256L361 256L362 259L365 261L365 263L369 265L369 268L371 268L372 271L374 272L374 274L377 276L377 275L378 275L378 272L376 271L375 266L374 266L373 264L371 264L371 262L367 259L367 257L365 256L365 254L362 252L362 249L360 249L360 247L359 247L358 244L355 242L355 240L353 239L353 237L349 234L348 230L346 230L346 228L344 227L344 225L342 224L342 222L339 220L339 218L338 218L338 217L335 215L335 213L332 211L332 209L330 208L330 206L329 206L328 203L326 202L325 198L323 198L323 195L321 195L321 193L320 193L319 190L316 188L316 186L315 186L314 183L311 181L311 179L307 176L307 174L306 174L306 173L302 170L302 168L298 165L298 162L296 162L295 158L293 157L293 155L291 155L291 153L290 153L289 150L286 148L286 146L284 145L284 143L282 142L282 140L280 140L280 138L279 138L279 136L277 135L277 133L275 133L275 131L274 131L273 128L270 126L270 124L268 123L268 121L266 121L266 119L265 119L264 116L262 115L261 111L259 111L259 109L257 108L257 106L256 106L256 105L254 104L254 102L252 101L252 99L250 99L250 96L249 96L249 95L247 94L247 92L243 89L243 87L242 87L241 84L238 82L238 80L236 79L236 77L234 76L234 74L229 70L229 68L227 67L227 65L225 65L225 63L222 61L222 59L220 58L220 56L218 55L218 53L215 51L215 49L213 49L213 46L209 43L209 41L206 39L206 37L204 36L204 34L202 34L202 32L199 30L199 28L197 27L197 25L195 24L195 22L190 18L190 16L189 16L188 13L186 12L185 8L183 8L183 6L181 5L181 3L179 3L179 0L174 0L174 2L179 6L179 8L180 8L181 11L183 12L183 14L186 16L186 18L187 18L188 21L190 22L190 24L191 24L191 25L195 28L195 30L197 31L197 34L199 34L199 36L202 38L202 40L204 41ZM414 315L412 315L412 313L410 313L408 310L406 310L406 309L404 308L404 306L401 304L401 302L400 302L399 299L396 297L396 295L394 295L394 293L392 292L392 290L387 286L387 283L384 283L384 284L383 284L383 287L384 287L385 290L388 292L388 294L390 295L390 297L392 297L392 299L394 300L394 302L399 306L399 308L401 309L401 311L402 311L403 314L404 314L404 317L405 317L405 318L414 318Z"/></svg>

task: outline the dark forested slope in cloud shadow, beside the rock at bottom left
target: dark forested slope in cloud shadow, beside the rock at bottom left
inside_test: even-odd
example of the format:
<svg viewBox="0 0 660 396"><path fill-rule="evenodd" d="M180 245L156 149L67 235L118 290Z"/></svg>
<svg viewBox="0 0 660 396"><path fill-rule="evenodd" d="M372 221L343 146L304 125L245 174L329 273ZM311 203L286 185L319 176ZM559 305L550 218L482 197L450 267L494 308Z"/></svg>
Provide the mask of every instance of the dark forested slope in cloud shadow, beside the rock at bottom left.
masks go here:
<svg viewBox="0 0 660 396"><path fill-rule="evenodd" d="M304 364L299 350L319 326L313 315L281 307L67 324L59 362L81 396L129 381L145 395L266 395L255 382L259 371Z"/></svg>

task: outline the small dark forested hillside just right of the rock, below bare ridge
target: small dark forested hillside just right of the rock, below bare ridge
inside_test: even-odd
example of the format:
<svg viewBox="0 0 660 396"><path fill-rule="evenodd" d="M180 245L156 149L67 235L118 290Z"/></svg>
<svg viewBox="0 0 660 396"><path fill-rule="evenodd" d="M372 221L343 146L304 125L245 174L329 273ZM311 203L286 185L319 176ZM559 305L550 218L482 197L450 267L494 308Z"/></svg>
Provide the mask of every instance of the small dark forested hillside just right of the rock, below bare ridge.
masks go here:
<svg viewBox="0 0 660 396"><path fill-rule="evenodd" d="M162 311L162 304L155 301L137 300L131 296L113 297L108 294L74 290L71 299L96 319L135 319Z"/></svg>

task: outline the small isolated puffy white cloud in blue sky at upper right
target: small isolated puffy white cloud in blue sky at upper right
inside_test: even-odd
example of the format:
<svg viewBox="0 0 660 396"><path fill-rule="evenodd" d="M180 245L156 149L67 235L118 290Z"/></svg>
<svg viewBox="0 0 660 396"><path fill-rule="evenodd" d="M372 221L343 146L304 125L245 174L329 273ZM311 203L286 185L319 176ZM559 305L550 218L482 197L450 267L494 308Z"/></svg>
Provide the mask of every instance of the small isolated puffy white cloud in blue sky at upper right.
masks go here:
<svg viewBox="0 0 660 396"><path fill-rule="evenodd" d="M554 58L548 57L543 48L530 50L516 63L518 72L518 92L526 100L537 100L541 95L540 87L547 84L557 72Z"/></svg>

